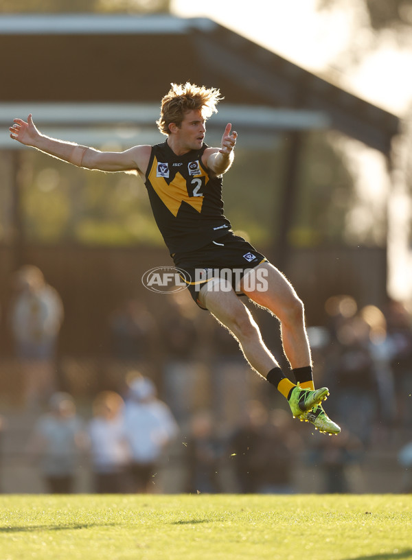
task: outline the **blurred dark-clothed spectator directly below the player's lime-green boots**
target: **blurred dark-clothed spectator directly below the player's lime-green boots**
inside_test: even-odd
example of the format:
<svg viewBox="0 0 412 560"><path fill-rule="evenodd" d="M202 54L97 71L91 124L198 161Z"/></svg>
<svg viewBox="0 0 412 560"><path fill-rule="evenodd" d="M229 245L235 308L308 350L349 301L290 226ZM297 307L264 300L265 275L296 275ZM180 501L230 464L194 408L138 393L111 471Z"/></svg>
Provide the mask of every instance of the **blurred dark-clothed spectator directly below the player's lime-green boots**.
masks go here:
<svg viewBox="0 0 412 560"><path fill-rule="evenodd" d="M323 475L322 491L325 493L348 493L353 491L350 467L361 460L361 441L343 426L339 436L319 436L310 458Z"/></svg>

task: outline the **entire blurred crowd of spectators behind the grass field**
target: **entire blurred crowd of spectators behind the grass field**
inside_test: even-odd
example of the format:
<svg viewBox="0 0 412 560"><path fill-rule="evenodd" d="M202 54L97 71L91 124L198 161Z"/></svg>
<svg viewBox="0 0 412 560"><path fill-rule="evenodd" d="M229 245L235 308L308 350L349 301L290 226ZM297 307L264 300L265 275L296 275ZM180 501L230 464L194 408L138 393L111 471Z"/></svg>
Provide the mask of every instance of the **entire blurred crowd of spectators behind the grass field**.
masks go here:
<svg viewBox="0 0 412 560"><path fill-rule="evenodd" d="M60 296L34 266L14 281L10 326L33 422L24 452L45 491L76 491L86 463L89 491L98 493L291 493L298 464L316 467L321 491L350 492L351 473L376 446L395 450L402 490L412 491L412 317L403 303L359 307L352 296L332 296L324 324L308 327L315 384L330 388L325 408L343 428L328 437L292 419L236 340L185 292L163 296L161 318L140 299L113 312L111 360L126 365L95 384L89 406L80 399L80 413L76 388L57 375ZM265 316L266 344L280 356ZM180 476L168 486L159 469Z"/></svg>

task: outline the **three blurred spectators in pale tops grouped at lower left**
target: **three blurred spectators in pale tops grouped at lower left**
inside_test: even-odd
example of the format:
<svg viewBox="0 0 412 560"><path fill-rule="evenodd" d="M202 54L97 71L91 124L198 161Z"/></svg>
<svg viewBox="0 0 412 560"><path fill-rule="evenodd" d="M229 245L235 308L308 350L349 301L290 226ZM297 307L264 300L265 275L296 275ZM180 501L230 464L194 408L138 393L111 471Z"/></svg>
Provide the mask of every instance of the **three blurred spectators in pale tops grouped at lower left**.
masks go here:
<svg viewBox="0 0 412 560"><path fill-rule="evenodd" d="M45 489L71 493L78 465L91 471L91 491L150 491L163 449L179 428L168 406L157 399L155 385L135 374L126 399L105 390L93 400L93 417L82 419L68 393L58 392L41 415L27 454L41 471Z"/></svg>

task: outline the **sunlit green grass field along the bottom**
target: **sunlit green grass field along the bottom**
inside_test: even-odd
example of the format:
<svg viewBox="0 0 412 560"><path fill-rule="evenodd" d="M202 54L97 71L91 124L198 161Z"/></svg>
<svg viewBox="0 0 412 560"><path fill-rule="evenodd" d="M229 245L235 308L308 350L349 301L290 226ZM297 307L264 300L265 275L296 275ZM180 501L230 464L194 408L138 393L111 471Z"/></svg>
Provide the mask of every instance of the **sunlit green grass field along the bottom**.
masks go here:
<svg viewBox="0 0 412 560"><path fill-rule="evenodd" d="M3 495L1 560L412 559L412 495Z"/></svg>

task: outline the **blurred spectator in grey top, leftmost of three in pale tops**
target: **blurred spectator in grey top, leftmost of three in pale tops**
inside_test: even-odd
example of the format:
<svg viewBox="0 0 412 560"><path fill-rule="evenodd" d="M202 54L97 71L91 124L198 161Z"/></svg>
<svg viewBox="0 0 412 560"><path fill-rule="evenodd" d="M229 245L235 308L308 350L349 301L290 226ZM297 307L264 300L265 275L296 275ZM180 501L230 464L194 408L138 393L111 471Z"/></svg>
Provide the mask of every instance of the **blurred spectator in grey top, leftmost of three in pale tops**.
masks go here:
<svg viewBox="0 0 412 560"><path fill-rule="evenodd" d="M55 393L49 400L49 412L38 419L27 447L30 456L40 460L48 492L73 492L83 448L82 421L76 416L73 398L67 393Z"/></svg>

